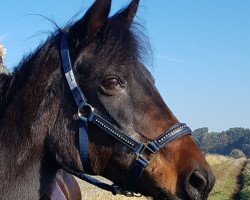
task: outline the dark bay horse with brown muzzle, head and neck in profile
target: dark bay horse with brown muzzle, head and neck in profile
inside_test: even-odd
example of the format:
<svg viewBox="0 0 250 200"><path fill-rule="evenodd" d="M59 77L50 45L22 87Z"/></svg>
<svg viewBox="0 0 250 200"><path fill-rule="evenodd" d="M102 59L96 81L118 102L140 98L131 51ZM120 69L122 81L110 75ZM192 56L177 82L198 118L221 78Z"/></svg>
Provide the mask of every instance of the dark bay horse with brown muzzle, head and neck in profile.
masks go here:
<svg viewBox="0 0 250 200"><path fill-rule="evenodd" d="M88 122L88 173L156 200L207 199L214 184L209 165L142 64L145 51L133 31L138 3L132 0L109 17L111 0L96 0L80 20L56 32L11 75L0 75L0 199L41 199L54 192L55 181L70 188L70 175L55 179L59 169L86 172L79 148L80 111L63 70L65 34L72 74L91 105L87 114L97 113L112 124L111 130L128 136L124 145ZM180 137L160 143L180 130ZM136 154L130 145L134 141L143 147ZM128 180L138 159L149 162L142 163L145 169L133 188Z"/></svg>

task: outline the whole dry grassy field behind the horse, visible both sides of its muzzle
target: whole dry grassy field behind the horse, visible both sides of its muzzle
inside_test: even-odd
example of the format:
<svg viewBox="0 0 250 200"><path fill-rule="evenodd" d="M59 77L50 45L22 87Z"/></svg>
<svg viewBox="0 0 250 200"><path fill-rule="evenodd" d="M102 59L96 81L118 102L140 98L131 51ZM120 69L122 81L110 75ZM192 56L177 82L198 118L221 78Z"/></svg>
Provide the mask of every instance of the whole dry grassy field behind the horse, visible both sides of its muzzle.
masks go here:
<svg viewBox="0 0 250 200"><path fill-rule="evenodd" d="M250 160L243 170L242 167L247 162L245 158L233 159L221 155L208 155L206 158L216 177L215 186L208 200L231 200L235 193L240 193L240 200L250 200ZM239 191L238 176L241 173L243 188ZM110 192L100 190L83 181L79 181L79 184L84 200L146 200L146 197L113 196Z"/></svg>

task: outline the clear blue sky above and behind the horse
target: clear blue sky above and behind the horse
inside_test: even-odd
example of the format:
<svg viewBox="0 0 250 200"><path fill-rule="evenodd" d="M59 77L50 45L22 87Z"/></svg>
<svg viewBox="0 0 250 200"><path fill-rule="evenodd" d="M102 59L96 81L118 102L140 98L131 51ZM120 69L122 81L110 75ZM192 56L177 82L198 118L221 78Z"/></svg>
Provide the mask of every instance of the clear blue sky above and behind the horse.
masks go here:
<svg viewBox="0 0 250 200"><path fill-rule="evenodd" d="M5 1L0 43L7 48L6 65L13 68L54 30L31 14L63 26L92 2ZM114 1L112 12L128 2ZM211 131L250 128L250 1L141 0L137 18L152 44L157 87L180 121Z"/></svg>

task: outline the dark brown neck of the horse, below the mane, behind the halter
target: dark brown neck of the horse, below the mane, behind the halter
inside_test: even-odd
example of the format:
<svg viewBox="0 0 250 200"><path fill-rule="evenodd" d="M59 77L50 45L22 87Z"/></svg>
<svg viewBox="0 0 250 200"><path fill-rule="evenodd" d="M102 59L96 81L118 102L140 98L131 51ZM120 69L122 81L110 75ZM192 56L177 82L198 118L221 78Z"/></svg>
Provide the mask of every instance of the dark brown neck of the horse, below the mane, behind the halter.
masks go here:
<svg viewBox="0 0 250 200"><path fill-rule="evenodd" d="M56 118L44 108L51 69L34 67L32 59L12 75L0 116L1 199L39 199L58 169L44 157L47 127Z"/></svg>

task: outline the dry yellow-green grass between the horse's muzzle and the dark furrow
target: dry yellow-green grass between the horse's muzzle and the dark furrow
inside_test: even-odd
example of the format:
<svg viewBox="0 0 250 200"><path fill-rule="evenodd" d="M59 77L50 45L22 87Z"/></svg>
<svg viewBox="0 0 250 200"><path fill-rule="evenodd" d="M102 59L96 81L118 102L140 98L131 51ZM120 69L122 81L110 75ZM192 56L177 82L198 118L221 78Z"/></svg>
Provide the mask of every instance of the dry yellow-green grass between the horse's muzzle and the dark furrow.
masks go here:
<svg viewBox="0 0 250 200"><path fill-rule="evenodd" d="M208 200L229 200L238 190L237 177L246 159L233 159L221 155L208 155L216 182ZM249 199L248 199L249 200Z"/></svg>

